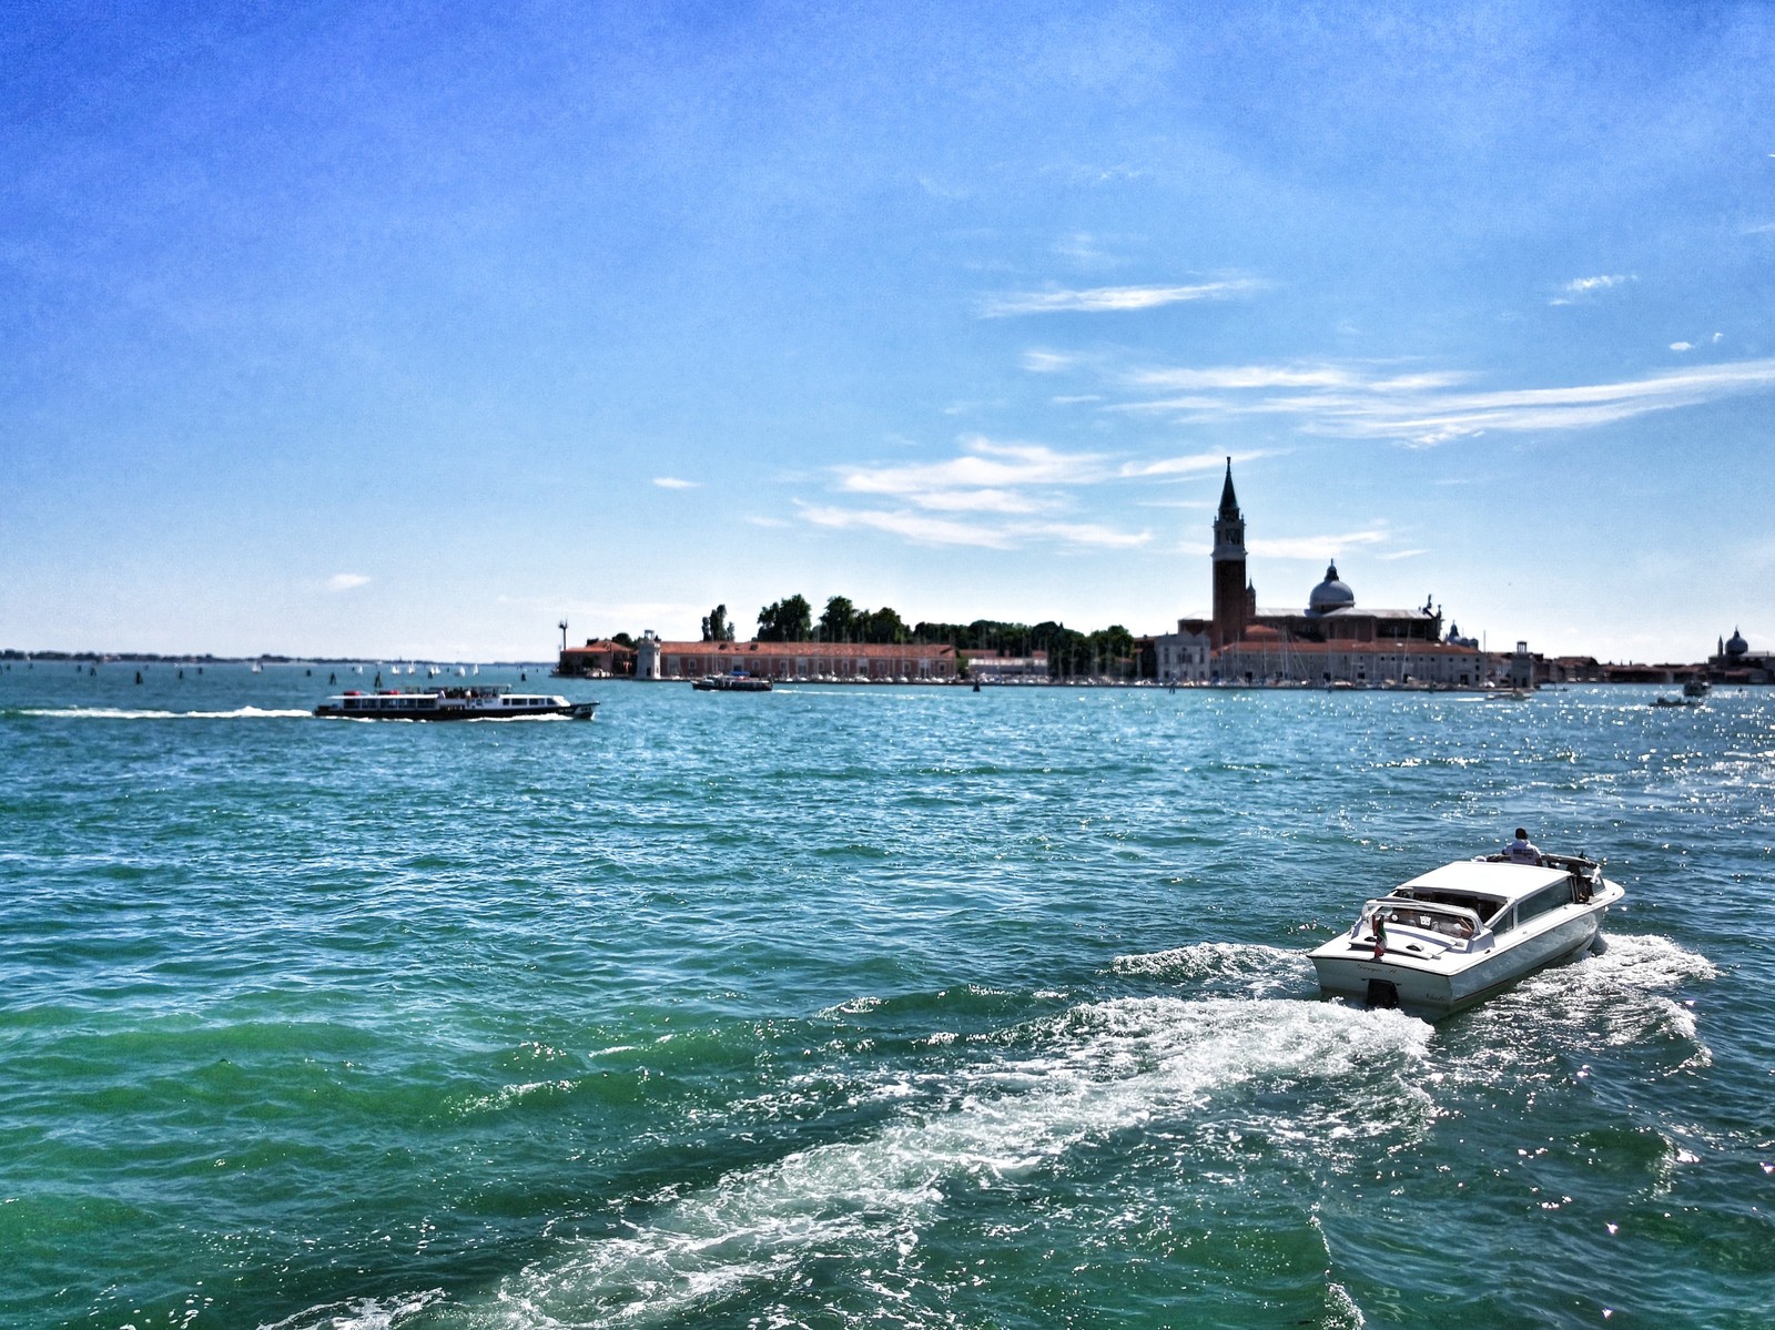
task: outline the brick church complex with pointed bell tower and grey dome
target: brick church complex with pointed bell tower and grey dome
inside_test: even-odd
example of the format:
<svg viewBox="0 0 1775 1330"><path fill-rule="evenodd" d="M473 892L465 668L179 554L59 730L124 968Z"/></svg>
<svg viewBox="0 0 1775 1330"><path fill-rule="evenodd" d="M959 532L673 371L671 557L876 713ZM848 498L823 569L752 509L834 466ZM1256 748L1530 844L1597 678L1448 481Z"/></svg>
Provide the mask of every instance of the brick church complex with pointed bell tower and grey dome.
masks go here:
<svg viewBox="0 0 1775 1330"><path fill-rule="evenodd" d="M1441 611L1363 609L1337 565L1312 590L1305 609L1260 609L1246 566L1244 513L1232 485L1232 458L1214 513L1212 613L1182 618L1154 639L1159 682L1189 684L1440 684L1486 682L1479 643L1441 630Z"/></svg>

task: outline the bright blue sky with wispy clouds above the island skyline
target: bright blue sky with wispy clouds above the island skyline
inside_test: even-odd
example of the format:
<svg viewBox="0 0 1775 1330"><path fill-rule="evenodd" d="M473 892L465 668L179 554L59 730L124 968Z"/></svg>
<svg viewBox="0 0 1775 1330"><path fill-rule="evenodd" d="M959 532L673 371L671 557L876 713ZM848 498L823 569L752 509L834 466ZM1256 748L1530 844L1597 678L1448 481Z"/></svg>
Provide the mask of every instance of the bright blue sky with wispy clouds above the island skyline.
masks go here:
<svg viewBox="0 0 1775 1330"><path fill-rule="evenodd" d="M4 12L0 646L1775 646L1771 5Z"/></svg>

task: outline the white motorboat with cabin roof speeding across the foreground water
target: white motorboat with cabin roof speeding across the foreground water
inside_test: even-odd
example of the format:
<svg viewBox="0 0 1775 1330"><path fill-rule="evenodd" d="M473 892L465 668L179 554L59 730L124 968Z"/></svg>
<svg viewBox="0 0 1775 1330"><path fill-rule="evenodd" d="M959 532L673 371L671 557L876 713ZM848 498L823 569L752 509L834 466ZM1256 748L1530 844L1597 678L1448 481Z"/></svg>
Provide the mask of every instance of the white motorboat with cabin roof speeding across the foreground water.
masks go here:
<svg viewBox="0 0 1775 1330"><path fill-rule="evenodd" d="M1598 941L1626 891L1576 854L1450 863L1363 906L1315 948L1319 991L1415 1016L1448 1016Z"/></svg>

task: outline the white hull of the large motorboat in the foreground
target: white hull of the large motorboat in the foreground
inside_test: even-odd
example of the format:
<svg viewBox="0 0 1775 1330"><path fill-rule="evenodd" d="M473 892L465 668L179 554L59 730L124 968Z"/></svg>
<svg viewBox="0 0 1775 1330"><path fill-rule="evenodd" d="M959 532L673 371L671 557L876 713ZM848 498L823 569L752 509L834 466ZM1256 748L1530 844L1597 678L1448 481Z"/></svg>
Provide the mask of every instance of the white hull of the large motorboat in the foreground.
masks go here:
<svg viewBox="0 0 1775 1330"><path fill-rule="evenodd" d="M1340 938L1312 954L1319 991L1324 998L1399 1007L1431 1019L1452 1016L1594 946L1603 914L1621 897L1622 890L1610 883L1589 902L1566 906L1509 945L1471 957L1418 961L1393 950L1374 959L1372 946Z"/></svg>

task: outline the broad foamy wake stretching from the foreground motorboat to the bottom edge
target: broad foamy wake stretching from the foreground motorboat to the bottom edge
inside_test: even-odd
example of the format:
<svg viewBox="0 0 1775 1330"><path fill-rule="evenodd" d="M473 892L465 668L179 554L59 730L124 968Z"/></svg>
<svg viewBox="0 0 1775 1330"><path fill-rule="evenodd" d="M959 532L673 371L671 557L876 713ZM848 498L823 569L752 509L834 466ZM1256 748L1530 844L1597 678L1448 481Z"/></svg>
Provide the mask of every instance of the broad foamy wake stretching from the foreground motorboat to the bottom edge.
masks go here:
<svg viewBox="0 0 1775 1330"><path fill-rule="evenodd" d="M877 1310L891 1302L900 1323L918 1323L918 1293L934 1279L918 1257L921 1234L982 1195L1045 1190L1081 1149L1077 1167L1090 1167L1090 1147L1138 1133L1166 1142L1154 1156L1163 1167L1189 1172L1177 1156L1223 1151L1230 1117L1232 1136L1257 1131L1267 1149L1312 1167L1360 1138L1422 1135L1434 1115L1422 1089L1431 1028L1397 1012L1120 998L1012 1033L1022 1051L943 1073L937 1103L921 1096L872 1135L667 1190L634 1207L618 1234L566 1241L490 1298L414 1323L674 1323L834 1261L854 1264Z"/></svg>

